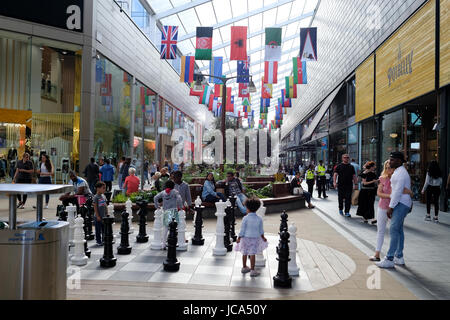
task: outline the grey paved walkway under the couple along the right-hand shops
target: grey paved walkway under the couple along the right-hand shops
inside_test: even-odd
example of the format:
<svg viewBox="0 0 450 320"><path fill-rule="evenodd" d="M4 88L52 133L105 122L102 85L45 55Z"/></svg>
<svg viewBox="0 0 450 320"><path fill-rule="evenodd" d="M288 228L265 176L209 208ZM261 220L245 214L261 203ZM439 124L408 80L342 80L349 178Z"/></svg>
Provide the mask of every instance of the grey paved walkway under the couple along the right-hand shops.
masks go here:
<svg viewBox="0 0 450 320"><path fill-rule="evenodd" d="M327 195L327 199L313 198L316 206L314 211L367 256L372 255L375 252L376 226L363 223L363 219L356 216L355 206L350 211L352 218L340 216L337 192L330 190ZM314 197L317 197L316 190ZM396 267L388 273L421 299L450 299L450 214L440 212L438 224L424 221L425 214L426 206L414 202L413 211L404 224L406 266ZM388 226L382 257L389 247L389 241Z"/></svg>

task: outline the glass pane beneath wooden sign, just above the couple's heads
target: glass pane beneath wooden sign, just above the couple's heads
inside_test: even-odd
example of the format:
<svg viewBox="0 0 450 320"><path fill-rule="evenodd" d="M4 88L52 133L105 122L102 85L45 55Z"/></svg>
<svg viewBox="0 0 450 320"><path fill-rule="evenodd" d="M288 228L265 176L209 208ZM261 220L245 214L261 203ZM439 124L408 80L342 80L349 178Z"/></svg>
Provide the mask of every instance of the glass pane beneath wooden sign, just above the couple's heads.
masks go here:
<svg viewBox="0 0 450 320"><path fill-rule="evenodd" d="M403 145L403 110L383 116L382 121L381 162L389 159L393 151L404 151Z"/></svg>

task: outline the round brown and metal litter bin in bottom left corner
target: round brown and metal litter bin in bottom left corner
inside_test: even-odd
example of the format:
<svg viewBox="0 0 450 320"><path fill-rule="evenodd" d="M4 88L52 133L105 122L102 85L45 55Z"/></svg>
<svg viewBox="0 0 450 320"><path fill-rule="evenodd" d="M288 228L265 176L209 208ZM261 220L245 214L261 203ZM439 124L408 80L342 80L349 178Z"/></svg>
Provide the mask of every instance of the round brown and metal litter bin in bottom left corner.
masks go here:
<svg viewBox="0 0 450 320"><path fill-rule="evenodd" d="M0 300L66 299L69 223L0 230Z"/></svg>

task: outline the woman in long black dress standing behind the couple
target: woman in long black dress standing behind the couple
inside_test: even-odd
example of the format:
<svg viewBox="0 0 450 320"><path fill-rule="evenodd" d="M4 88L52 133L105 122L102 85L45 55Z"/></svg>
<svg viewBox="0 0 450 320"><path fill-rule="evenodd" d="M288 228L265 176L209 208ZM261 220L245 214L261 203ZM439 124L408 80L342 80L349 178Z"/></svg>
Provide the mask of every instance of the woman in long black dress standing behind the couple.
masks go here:
<svg viewBox="0 0 450 320"><path fill-rule="evenodd" d="M364 218L364 223L375 217L375 196L377 194L377 175L375 174L375 162L369 161L364 165L364 171L360 173L362 179L361 190L358 198L357 216ZM372 224L376 224L376 220L372 220Z"/></svg>

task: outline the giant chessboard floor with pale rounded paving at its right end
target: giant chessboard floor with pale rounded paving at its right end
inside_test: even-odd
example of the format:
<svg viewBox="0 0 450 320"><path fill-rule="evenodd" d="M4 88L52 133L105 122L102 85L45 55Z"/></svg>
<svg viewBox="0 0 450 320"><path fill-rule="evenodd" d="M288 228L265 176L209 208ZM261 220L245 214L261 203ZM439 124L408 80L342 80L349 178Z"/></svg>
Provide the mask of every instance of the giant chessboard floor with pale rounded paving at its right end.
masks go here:
<svg viewBox="0 0 450 320"><path fill-rule="evenodd" d="M273 289L273 277L278 271L277 235L266 235L269 242L269 247L264 252L266 266L258 268L261 275L254 278L248 273L241 273L242 255L239 252L233 250L225 256L213 256L215 235L212 233L203 235L205 245L193 246L189 243L187 251L177 251L177 259L180 262L178 272L163 270L167 251L150 249L151 234L148 243L136 243L135 236L136 234L130 236L130 245L133 248L130 255L116 254L119 237L116 238L114 254L117 264L113 268L100 267L99 259L103 256L103 247L96 247L94 241L90 241L91 258L88 264L81 267L77 275L74 275L74 266L70 266L68 275L79 276L81 280ZM297 265L300 274L292 277L293 290L308 292L332 286L350 277L356 269L355 263L348 256L330 247L302 239L297 239L297 244Z"/></svg>

